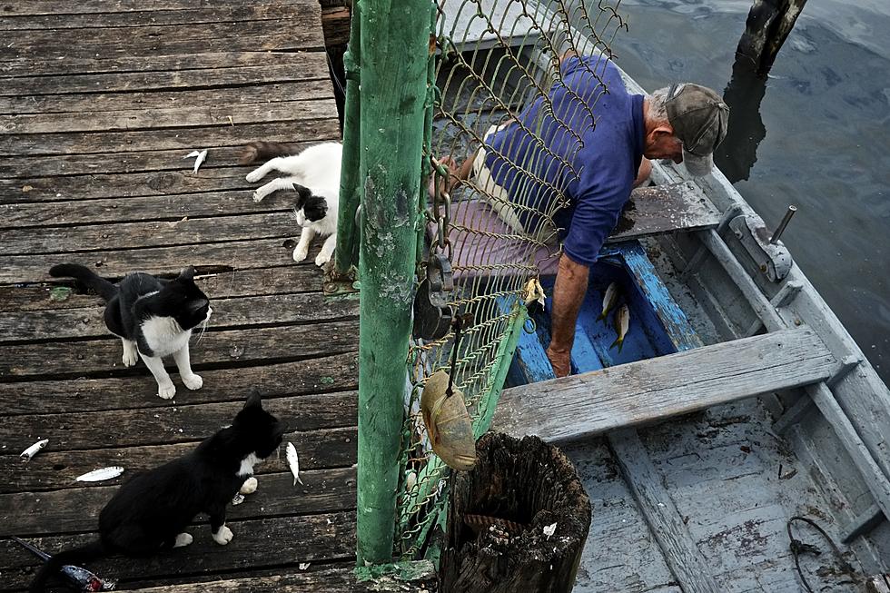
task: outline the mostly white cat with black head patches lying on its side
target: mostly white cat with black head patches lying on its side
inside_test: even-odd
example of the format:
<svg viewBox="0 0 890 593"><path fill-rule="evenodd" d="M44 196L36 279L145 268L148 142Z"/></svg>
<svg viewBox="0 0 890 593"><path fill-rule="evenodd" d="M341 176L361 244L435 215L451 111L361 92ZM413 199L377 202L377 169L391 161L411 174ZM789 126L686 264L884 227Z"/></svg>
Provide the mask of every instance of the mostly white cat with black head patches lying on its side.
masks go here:
<svg viewBox="0 0 890 593"><path fill-rule="evenodd" d="M288 173L262 185L253 192L253 201L278 190L297 193L293 212L297 224L302 227L300 241L293 250L293 261L302 262L309 254L309 243L316 234L327 237L321 252L315 257L315 265L331 261L337 246L337 216L340 202L340 170L343 145L337 142L310 146L298 154L292 154L290 144L252 143L248 146L242 163L274 157L247 175L247 181L258 182L263 177L280 171ZM291 154L290 156L281 155ZM279 156L275 156L279 155Z"/></svg>

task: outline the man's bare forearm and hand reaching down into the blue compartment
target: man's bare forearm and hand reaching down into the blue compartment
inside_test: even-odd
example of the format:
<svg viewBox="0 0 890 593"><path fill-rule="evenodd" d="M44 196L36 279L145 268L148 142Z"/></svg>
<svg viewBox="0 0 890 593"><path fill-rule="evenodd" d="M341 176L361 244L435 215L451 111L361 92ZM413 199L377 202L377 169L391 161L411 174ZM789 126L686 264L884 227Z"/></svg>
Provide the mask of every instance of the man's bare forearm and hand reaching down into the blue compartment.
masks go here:
<svg viewBox="0 0 890 593"><path fill-rule="evenodd" d="M588 266L573 262L565 253L559 258L548 357L557 376L569 374L569 354L575 341L575 321L588 290Z"/></svg>

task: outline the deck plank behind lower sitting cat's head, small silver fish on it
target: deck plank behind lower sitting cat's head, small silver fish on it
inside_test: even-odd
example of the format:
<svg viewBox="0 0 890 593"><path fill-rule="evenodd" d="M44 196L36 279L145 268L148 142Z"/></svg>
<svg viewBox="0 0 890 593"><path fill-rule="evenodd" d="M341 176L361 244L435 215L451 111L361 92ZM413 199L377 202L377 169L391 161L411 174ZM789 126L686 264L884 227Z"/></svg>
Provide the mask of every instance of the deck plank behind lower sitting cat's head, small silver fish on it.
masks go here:
<svg viewBox="0 0 890 593"><path fill-rule="evenodd" d="M220 427L214 427L218 430ZM212 430L212 432L213 432ZM356 460L356 427L328 430L294 431L285 435L300 455L300 469L347 467ZM206 436L206 435L204 435ZM149 445L142 447L114 447L81 451L42 451L33 460L23 463L17 455L0 455L0 492L32 492L47 489L99 488L95 484L84 487L74 478L90 469L111 465L124 467L120 478L106 480L101 486L123 483L135 471L157 467L162 463L193 450L195 442ZM290 471L287 461L273 457L256 466L257 475Z"/></svg>

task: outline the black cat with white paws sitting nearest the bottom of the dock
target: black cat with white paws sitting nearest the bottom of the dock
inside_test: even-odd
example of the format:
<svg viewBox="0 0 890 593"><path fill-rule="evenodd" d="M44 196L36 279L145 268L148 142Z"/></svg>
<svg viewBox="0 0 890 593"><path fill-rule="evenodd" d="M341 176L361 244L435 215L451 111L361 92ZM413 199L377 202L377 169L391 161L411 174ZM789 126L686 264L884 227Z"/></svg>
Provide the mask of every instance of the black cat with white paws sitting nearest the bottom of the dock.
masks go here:
<svg viewBox="0 0 890 593"><path fill-rule="evenodd" d="M124 483L99 512L99 539L50 558L32 582L32 593L44 591L47 579L66 564L118 554L152 556L188 546L192 535L185 529L201 513L210 515L213 540L226 545L232 540L232 530L225 525L226 506L239 489L256 489L253 466L278 449L285 430L262 409L260 396L252 394L232 426L203 440L191 453ZM250 489L245 479L253 482Z"/></svg>

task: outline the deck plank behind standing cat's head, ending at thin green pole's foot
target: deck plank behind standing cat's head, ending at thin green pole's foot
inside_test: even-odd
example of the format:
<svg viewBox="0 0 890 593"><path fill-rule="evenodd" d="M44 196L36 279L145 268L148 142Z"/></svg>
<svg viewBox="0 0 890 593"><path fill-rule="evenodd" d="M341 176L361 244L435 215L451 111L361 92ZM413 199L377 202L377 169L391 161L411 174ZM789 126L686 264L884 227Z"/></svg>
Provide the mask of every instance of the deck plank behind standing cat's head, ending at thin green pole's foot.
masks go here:
<svg viewBox="0 0 890 593"><path fill-rule="evenodd" d="M279 268L237 270L231 272L198 269L195 282L211 299L294 294L297 292L321 292L321 271L312 264L318 243L306 262ZM171 272L174 273L174 272ZM0 286L0 311L57 311L102 307L102 301L94 294L52 292L54 287L73 287L71 279L58 279L52 283L34 286ZM215 323L216 317L214 317Z"/></svg>

